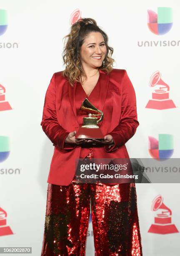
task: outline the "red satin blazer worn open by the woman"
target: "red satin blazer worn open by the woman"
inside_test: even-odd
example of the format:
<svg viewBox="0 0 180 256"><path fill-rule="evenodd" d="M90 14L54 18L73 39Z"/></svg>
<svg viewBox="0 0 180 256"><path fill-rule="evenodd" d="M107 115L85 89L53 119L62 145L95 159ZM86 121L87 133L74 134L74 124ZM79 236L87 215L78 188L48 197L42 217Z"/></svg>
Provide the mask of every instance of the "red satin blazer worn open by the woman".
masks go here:
<svg viewBox="0 0 180 256"><path fill-rule="evenodd" d="M75 175L75 159L80 158L81 146L65 143L72 131L77 131L75 90L62 72L53 74L45 95L42 129L55 146L50 164L48 183L69 185ZM135 91L128 74L123 69L113 69L110 74L100 70L100 98L98 109L104 113L100 123L102 133L111 134L115 145L94 147L94 158L129 158L125 143L135 134L137 120Z"/></svg>

